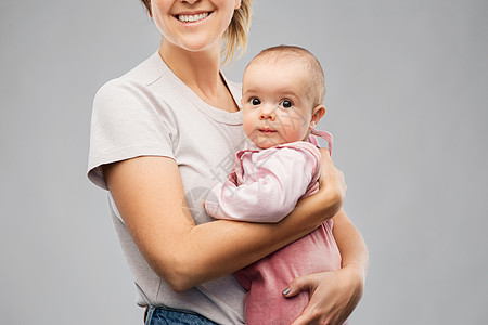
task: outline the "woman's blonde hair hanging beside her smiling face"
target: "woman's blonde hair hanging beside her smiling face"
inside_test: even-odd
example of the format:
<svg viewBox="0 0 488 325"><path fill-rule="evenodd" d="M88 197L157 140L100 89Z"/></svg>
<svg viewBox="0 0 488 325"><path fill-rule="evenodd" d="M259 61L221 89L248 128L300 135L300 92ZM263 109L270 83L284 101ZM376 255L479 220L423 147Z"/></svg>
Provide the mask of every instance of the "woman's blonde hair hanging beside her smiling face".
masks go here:
<svg viewBox="0 0 488 325"><path fill-rule="evenodd" d="M141 0L151 14L151 0ZM241 6L234 11L232 21L223 32L223 63L232 63L235 53L244 54L247 47L247 35L251 27L253 0L241 0Z"/></svg>

